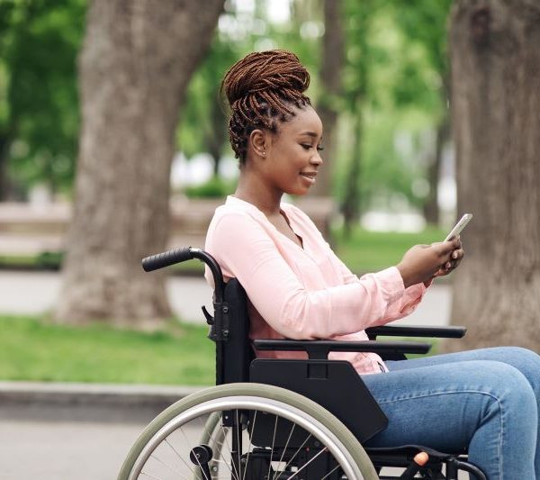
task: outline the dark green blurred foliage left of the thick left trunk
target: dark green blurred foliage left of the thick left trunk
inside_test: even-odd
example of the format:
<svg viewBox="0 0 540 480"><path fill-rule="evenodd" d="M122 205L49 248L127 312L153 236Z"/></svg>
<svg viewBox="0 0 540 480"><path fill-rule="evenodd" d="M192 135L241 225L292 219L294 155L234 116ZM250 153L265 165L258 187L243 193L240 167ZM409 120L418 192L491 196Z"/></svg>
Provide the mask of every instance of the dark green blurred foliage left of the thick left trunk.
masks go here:
<svg viewBox="0 0 540 480"><path fill-rule="evenodd" d="M76 54L85 0L0 3L0 136L12 182L73 179L78 135ZM2 195L2 194L0 194Z"/></svg>

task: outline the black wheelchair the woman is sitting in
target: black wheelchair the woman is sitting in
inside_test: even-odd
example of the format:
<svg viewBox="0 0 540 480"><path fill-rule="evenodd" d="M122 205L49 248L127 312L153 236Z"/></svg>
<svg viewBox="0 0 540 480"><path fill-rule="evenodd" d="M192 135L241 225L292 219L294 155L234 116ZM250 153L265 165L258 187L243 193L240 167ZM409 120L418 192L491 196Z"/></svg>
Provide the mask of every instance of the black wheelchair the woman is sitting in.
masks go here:
<svg viewBox="0 0 540 480"><path fill-rule="evenodd" d="M216 346L216 386L191 394L157 416L126 457L119 480L486 480L466 452L419 445L364 448L388 420L361 376L330 351L376 352L383 359L427 353L417 341L381 336L461 338L462 327L383 326L367 341L248 338L247 295L201 249L143 259L146 271L197 258L214 281L213 315L203 306ZM256 358L255 351L305 351L307 359ZM347 399L354 399L347 401ZM392 472L385 467L393 467Z"/></svg>

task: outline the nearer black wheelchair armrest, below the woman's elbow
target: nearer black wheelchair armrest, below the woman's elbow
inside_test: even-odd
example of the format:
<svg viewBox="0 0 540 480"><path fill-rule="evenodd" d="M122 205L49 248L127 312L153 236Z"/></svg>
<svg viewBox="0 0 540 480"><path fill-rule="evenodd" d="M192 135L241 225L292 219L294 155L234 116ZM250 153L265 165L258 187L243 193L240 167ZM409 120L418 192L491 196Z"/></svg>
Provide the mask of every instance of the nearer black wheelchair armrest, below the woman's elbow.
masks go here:
<svg viewBox="0 0 540 480"><path fill-rule="evenodd" d="M257 350L305 351L311 359L325 359L331 351L428 353L431 345L418 341L254 340Z"/></svg>

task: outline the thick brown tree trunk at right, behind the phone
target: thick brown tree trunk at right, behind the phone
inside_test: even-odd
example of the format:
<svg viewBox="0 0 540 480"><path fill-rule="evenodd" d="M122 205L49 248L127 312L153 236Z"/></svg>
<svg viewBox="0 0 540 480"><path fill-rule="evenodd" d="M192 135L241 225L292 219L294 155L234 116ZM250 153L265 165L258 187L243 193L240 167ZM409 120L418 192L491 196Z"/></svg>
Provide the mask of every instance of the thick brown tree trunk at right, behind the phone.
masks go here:
<svg viewBox="0 0 540 480"><path fill-rule="evenodd" d="M455 348L540 347L540 4L461 0L450 32L453 130L466 257Z"/></svg>

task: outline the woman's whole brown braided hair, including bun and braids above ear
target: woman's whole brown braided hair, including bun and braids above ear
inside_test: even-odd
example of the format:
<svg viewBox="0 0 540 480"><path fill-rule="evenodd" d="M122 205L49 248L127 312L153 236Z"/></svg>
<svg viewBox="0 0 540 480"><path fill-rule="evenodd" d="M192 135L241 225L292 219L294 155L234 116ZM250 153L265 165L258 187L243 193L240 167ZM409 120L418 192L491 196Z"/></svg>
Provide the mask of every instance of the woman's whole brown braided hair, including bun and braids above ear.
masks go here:
<svg viewBox="0 0 540 480"><path fill-rule="evenodd" d="M279 122L294 116L293 107L311 105L303 95L310 74L296 55L287 50L248 54L235 63L221 82L230 105L229 140L240 164L247 156L247 139L256 129L277 132Z"/></svg>

